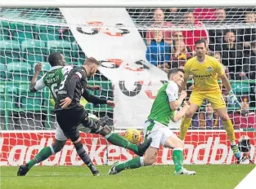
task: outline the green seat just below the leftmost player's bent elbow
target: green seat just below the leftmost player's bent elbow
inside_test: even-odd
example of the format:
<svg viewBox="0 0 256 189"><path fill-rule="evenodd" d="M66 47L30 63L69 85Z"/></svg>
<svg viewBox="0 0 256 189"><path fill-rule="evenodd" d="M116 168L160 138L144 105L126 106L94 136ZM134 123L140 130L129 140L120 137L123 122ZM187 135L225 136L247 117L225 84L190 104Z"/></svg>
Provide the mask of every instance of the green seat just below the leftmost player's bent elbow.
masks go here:
<svg viewBox="0 0 256 189"><path fill-rule="evenodd" d="M43 108L43 90L31 93L29 85L20 85L20 108L25 112L40 112Z"/></svg>

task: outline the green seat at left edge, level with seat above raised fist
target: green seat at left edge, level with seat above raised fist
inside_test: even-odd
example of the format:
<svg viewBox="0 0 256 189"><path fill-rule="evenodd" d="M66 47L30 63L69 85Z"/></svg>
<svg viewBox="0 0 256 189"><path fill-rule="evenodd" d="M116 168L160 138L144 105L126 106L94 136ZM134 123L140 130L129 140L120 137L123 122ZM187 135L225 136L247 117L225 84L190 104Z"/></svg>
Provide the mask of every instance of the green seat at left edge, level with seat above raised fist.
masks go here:
<svg viewBox="0 0 256 189"><path fill-rule="evenodd" d="M12 40L0 41L0 64L20 61L19 42Z"/></svg>

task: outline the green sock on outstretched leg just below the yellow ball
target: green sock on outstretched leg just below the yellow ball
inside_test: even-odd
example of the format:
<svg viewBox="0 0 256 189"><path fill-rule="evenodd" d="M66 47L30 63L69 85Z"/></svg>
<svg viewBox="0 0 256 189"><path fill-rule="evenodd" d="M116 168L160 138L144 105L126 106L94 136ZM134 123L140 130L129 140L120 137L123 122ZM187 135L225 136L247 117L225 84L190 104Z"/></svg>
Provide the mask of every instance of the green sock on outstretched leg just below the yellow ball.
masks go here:
<svg viewBox="0 0 256 189"><path fill-rule="evenodd" d="M107 139L107 141L114 144L115 146L124 147L125 149L129 149L135 153L138 152L137 145L128 142L128 140L122 137L120 134L111 133L110 136L106 136L105 138Z"/></svg>

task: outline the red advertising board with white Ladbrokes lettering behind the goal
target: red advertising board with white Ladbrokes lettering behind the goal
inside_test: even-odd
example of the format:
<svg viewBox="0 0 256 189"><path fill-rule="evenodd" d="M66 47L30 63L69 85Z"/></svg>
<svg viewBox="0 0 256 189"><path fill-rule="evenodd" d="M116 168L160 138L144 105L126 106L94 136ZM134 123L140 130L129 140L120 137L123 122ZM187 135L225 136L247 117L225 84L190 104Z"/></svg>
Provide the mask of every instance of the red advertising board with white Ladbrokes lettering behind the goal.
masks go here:
<svg viewBox="0 0 256 189"><path fill-rule="evenodd" d="M47 147L54 140L54 131L4 131L0 135L1 165L21 165L33 158L38 150ZM256 163L255 132L236 132L236 138L249 136L250 156ZM81 133L83 144L96 165L110 164L115 160L129 160L134 154L122 147L114 146L97 134ZM187 133L184 149L184 163L232 164L235 162L225 131L191 131ZM173 164L172 150L160 148L156 164ZM40 165L83 165L70 140L61 152L51 156Z"/></svg>

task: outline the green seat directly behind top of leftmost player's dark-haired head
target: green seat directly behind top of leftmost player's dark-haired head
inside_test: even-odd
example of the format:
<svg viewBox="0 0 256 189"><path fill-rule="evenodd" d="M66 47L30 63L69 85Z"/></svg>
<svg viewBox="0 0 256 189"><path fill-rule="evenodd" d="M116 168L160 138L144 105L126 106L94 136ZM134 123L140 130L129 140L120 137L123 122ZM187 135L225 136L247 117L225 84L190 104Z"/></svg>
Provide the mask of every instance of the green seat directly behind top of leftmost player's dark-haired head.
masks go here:
<svg viewBox="0 0 256 189"><path fill-rule="evenodd" d="M47 42L48 55L52 52L60 52L65 56L66 62L71 62L72 60L72 46L70 42L65 42L61 40L49 41Z"/></svg>

